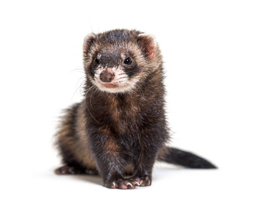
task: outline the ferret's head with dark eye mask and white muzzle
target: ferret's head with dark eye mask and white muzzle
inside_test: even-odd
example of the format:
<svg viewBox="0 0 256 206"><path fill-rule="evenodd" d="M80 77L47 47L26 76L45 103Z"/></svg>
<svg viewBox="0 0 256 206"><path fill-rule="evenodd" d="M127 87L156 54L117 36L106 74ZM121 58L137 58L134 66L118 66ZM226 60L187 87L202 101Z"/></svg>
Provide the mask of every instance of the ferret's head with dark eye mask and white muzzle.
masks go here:
<svg viewBox="0 0 256 206"><path fill-rule="evenodd" d="M84 38L83 51L87 79L110 93L133 90L161 63L154 37L136 30L91 33Z"/></svg>

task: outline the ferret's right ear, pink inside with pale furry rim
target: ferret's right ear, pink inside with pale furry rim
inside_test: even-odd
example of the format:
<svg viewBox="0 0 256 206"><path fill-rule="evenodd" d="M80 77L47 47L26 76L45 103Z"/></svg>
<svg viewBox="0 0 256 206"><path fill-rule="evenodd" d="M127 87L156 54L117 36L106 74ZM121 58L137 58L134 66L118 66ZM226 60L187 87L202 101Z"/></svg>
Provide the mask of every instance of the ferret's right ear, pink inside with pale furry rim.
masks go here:
<svg viewBox="0 0 256 206"><path fill-rule="evenodd" d="M151 34L142 33L138 35L138 43L142 47L143 54L151 60L156 53L156 40Z"/></svg>

